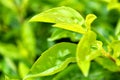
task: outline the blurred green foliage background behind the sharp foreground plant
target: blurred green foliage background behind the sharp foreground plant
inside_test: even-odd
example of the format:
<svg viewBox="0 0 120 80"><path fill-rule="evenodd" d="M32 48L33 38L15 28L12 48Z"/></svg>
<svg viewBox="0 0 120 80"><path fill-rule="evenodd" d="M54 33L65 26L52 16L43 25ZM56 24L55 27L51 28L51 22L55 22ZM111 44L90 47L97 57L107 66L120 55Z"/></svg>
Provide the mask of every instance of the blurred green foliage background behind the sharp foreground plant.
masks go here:
<svg viewBox="0 0 120 80"><path fill-rule="evenodd" d="M0 80L22 79L41 53L55 43L78 42L80 35L71 38L58 34L59 38L52 40L56 28L51 24L28 22L34 15L58 6L71 7L84 18L89 13L95 14L92 29L104 45L106 39L120 39L115 32L116 26L120 26L120 0L0 0ZM64 79L58 80L120 80L120 72L107 71L94 62L90 71L85 78L76 65L69 66L61 72ZM37 80L52 80L53 76Z"/></svg>

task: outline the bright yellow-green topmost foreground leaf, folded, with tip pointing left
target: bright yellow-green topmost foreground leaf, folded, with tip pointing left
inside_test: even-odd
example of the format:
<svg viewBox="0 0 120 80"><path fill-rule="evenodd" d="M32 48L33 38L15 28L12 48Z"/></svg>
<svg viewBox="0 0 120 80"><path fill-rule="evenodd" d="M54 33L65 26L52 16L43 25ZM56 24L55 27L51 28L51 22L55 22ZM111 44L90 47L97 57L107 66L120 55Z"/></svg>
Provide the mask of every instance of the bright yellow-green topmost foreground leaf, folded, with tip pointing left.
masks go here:
<svg viewBox="0 0 120 80"><path fill-rule="evenodd" d="M84 28L81 26L84 23L83 17L69 7L57 7L44 11L30 19L30 22L33 21L56 23L54 27L81 34L85 33Z"/></svg>

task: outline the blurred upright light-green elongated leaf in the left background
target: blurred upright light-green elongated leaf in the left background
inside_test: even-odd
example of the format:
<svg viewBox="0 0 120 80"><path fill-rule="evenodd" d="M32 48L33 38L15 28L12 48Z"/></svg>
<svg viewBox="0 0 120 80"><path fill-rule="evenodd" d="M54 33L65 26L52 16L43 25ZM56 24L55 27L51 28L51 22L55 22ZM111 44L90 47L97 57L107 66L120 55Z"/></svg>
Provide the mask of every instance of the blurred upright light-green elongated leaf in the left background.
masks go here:
<svg viewBox="0 0 120 80"><path fill-rule="evenodd" d="M22 45L29 52L28 57L35 57L35 47L36 47L36 39L33 33L33 29L28 22L25 22L21 27L21 38Z"/></svg>

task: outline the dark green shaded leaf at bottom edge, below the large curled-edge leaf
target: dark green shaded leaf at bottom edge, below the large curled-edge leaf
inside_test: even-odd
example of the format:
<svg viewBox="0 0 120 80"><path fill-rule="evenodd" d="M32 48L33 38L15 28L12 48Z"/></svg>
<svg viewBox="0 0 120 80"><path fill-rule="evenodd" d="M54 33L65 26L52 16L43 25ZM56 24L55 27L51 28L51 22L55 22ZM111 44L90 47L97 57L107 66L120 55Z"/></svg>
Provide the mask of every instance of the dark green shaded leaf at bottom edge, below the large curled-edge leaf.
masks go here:
<svg viewBox="0 0 120 80"><path fill-rule="evenodd" d="M84 76L81 74L78 66L76 64L71 64L66 69L55 75L52 80L81 80L83 77Z"/></svg>

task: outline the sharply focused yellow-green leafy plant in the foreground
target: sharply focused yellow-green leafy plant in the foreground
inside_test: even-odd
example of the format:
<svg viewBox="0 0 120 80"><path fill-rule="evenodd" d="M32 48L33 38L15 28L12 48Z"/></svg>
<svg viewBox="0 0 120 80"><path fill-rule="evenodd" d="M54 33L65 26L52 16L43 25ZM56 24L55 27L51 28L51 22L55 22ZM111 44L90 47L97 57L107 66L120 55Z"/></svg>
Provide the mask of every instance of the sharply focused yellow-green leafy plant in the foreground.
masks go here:
<svg viewBox="0 0 120 80"><path fill-rule="evenodd" d="M75 37L77 34L81 36L79 37L78 44L62 42L43 52L33 64L29 73L24 77L24 80L32 80L36 77L44 78L44 76L52 76L56 73L58 75L52 79L58 80L64 76L59 72L65 70L67 67L69 72L69 68L76 67L75 64L77 64L83 75L87 77L91 61L99 63L99 65L109 71L120 71L120 21L115 31L116 38L113 37L109 41L104 37L100 39L101 35L92 29L91 24L95 19L96 16L94 14L88 14L84 19L80 13L70 7L57 7L46 10L30 19L30 22L53 23L53 27L58 28L52 34L50 40L69 37L73 41L76 41ZM61 37L60 33L66 35ZM73 33L74 36L71 36Z"/></svg>

